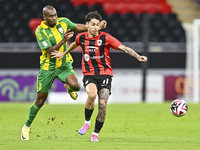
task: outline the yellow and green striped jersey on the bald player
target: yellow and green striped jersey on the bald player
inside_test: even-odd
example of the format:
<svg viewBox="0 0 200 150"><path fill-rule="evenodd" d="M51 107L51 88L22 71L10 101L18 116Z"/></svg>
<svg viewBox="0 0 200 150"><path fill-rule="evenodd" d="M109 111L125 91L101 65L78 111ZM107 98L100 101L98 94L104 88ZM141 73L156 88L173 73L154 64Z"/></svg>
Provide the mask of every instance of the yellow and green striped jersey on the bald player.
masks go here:
<svg viewBox="0 0 200 150"><path fill-rule="evenodd" d="M63 39L64 32L68 29L74 29L75 27L76 25L73 22L64 17L57 18L56 26L52 28L48 27L45 24L45 21L41 22L35 31L37 42L42 50L42 55L40 56L40 69L53 70L65 66L67 62L73 62L70 53L57 62L58 58L51 58L51 55L46 51L46 49L50 46L57 45ZM67 42L64 43L58 51L64 52L66 50Z"/></svg>

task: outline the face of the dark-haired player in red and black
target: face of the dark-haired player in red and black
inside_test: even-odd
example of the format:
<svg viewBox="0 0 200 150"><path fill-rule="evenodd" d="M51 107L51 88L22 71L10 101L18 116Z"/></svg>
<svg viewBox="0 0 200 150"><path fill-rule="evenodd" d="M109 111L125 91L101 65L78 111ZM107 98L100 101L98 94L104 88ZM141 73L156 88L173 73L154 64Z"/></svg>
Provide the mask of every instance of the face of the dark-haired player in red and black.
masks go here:
<svg viewBox="0 0 200 150"><path fill-rule="evenodd" d="M97 19L91 19L89 23L87 23L88 26L88 33L92 35L93 37L96 37L99 35L99 20Z"/></svg>

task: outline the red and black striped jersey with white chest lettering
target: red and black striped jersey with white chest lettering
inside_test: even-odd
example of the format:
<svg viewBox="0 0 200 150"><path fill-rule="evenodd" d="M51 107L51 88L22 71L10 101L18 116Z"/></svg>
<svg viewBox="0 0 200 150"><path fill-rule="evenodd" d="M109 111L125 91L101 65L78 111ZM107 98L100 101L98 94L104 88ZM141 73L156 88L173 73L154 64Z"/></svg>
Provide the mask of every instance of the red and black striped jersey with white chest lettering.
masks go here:
<svg viewBox="0 0 200 150"><path fill-rule="evenodd" d="M76 45L82 48L83 75L110 75L113 71L110 62L110 47L114 50L122 44L106 32L99 32L94 38L88 37L88 32L79 33L75 39Z"/></svg>

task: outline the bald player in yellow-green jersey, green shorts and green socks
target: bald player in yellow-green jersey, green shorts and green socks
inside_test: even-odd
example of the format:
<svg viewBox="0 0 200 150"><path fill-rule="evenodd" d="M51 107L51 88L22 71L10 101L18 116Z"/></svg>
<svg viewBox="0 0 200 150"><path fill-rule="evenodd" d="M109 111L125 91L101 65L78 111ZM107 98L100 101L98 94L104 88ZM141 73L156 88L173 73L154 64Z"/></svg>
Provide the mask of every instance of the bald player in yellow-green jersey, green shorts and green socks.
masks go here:
<svg viewBox="0 0 200 150"><path fill-rule="evenodd" d="M39 109L43 106L48 92L55 78L64 83L65 89L71 98L76 100L78 95L76 91L80 90L76 73L73 71L73 59L68 53L62 61L57 62L58 58L51 58L54 50L65 52L67 50L67 41L73 36L73 31L86 31L84 24L75 24L69 19L58 18L54 7L45 6L43 8L44 21L36 29L36 39L41 48L40 72L37 76L37 98L31 105L28 117L22 127L21 139L29 140L30 126L37 115ZM100 28L106 27L106 21L102 21Z"/></svg>

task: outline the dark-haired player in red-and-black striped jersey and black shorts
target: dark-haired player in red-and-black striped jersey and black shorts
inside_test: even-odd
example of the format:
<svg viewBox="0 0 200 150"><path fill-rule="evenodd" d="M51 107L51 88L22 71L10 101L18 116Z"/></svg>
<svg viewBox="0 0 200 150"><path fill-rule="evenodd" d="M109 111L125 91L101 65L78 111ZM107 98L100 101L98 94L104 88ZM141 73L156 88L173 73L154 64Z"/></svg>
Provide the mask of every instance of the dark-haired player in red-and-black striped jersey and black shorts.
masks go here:
<svg viewBox="0 0 200 150"><path fill-rule="evenodd" d="M79 129L81 135L85 134L90 128L90 118L94 110L96 96L98 95L99 111L96 117L95 129L91 135L91 141L98 141L98 135L106 117L107 101L111 93L113 71L109 57L110 47L114 50L123 51L139 61L147 61L146 56L140 56L110 34L99 31L101 20L102 17L96 11L88 13L85 17L88 31L79 33L76 36L75 42L64 53L58 51L51 53L52 58L59 57L59 61L77 46L82 48L83 84L88 97L85 104L85 122Z"/></svg>

